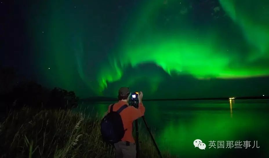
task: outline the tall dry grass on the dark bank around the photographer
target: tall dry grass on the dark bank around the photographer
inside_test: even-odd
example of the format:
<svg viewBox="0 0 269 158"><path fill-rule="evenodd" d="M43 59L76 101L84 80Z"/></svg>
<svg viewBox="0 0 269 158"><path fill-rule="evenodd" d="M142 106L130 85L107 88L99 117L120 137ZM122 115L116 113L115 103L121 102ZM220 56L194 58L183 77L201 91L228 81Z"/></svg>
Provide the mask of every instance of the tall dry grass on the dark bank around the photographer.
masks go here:
<svg viewBox="0 0 269 158"><path fill-rule="evenodd" d="M158 157L151 140L142 140L140 156ZM100 118L70 110L14 111L0 123L0 141L1 158L114 157L101 139Z"/></svg>

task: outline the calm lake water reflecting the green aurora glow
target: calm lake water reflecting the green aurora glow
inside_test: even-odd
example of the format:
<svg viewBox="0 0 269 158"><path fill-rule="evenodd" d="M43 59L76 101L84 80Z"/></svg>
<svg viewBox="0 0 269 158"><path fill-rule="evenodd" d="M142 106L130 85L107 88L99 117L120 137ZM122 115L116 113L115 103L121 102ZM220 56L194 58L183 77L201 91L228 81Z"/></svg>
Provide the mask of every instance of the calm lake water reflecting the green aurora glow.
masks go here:
<svg viewBox="0 0 269 158"><path fill-rule="evenodd" d="M84 102L78 109L102 117L109 104ZM161 150L179 157L269 157L269 100L144 101L143 104L146 121ZM140 128L145 128L143 122ZM205 150L195 147L196 139L206 145Z"/></svg>

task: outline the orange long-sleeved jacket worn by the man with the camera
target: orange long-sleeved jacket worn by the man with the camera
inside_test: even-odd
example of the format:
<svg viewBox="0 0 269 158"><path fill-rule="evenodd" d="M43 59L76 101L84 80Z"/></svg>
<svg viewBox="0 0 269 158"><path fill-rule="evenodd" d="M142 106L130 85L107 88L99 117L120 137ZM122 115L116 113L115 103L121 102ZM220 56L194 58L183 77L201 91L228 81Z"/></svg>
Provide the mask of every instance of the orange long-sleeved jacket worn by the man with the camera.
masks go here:
<svg viewBox="0 0 269 158"><path fill-rule="evenodd" d="M125 130L126 129L127 130L125 131L125 134L121 139L121 141L129 141L131 143L134 143L134 138L132 136L132 130L133 130L132 122L144 115L145 107L143 106L142 103L139 103L138 109L136 109L133 106L129 106L128 102L120 100L119 102L114 104L113 111L117 111L124 104L128 105L128 107L123 111L121 111L120 115L123 122L123 127ZM110 106L111 105L109 105L108 107L108 112L110 112Z"/></svg>

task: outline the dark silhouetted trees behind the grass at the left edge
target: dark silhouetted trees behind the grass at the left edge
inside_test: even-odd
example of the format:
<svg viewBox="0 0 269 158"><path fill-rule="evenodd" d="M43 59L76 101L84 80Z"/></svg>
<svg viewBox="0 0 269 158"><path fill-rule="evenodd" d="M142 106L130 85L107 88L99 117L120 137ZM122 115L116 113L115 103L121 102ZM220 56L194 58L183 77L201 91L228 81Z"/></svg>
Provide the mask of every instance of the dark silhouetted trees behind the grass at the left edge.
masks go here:
<svg viewBox="0 0 269 158"><path fill-rule="evenodd" d="M22 79L14 68L0 68L0 108L2 112L30 106L69 109L77 106L73 91L48 89L37 82Z"/></svg>

